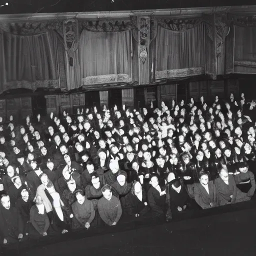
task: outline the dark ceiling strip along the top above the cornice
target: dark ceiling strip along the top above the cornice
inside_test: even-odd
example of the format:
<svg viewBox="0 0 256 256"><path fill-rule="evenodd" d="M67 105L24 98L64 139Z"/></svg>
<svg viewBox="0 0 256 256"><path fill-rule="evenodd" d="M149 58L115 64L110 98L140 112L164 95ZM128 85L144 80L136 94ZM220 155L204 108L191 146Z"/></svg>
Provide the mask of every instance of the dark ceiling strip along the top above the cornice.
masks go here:
<svg viewBox="0 0 256 256"><path fill-rule="evenodd" d="M6 1L0 0L0 5ZM8 0L8 2L8 6L0 7L0 14L139 10L253 4L252 0Z"/></svg>

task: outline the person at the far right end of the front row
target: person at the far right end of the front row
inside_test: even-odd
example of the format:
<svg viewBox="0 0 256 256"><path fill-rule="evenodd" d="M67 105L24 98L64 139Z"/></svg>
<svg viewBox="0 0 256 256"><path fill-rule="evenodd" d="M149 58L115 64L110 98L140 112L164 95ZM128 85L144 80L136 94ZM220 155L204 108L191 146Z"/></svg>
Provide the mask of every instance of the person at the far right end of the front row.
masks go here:
<svg viewBox="0 0 256 256"><path fill-rule="evenodd" d="M242 191L246 191L247 196L252 196L255 192L256 184L254 174L248 170L249 165L247 162L238 162L237 163L238 172L234 176L237 187Z"/></svg>

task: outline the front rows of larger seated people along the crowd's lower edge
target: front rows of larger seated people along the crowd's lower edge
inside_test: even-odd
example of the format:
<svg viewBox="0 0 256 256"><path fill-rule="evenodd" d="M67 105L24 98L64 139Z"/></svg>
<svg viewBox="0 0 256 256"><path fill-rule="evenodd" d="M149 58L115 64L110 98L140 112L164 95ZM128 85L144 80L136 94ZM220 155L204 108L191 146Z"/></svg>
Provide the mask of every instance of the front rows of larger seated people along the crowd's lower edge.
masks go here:
<svg viewBox="0 0 256 256"><path fill-rule="evenodd" d="M113 226L120 219L161 219L166 216L169 221L181 211L247 201L253 196L256 188L254 175L248 170L246 162L237 165L235 174L228 173L225 165L218 166L218 173L217 178L209 181L209 173L202 169L198 183L185 185L182 179L170 172L162 187L156 174L149 178L146 188L138 180L127 183L125 172L112 161L110 175L93 174L91 183L83 190L77 189L75 182L70 180L63 196L56 192L53 183L42 173L42 184L38 186L34 198L30 197L29 189L22 188L20 197L12 206L10 197L1 195L0 230L3 243L37 239L40 235L88 229L102 224ZM111 185L102 181L113 175L116 181ZM247 192L242 192L236 185L244 179L250 180Z"/></svg>

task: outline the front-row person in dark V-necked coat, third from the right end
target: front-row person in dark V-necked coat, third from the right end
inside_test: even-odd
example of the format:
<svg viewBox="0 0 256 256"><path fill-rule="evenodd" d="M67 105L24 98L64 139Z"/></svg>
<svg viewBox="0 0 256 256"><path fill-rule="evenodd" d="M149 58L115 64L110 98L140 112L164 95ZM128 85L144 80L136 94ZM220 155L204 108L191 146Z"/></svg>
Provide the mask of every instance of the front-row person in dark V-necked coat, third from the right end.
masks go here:
<svg viewBox="0 0 256 256"><path fill-rule="evenodd" d="M199 183L193 184L194 199L202 208L210 208L218 206L218 195L213 180L209 181L209 172L199 172Z"/></svg>

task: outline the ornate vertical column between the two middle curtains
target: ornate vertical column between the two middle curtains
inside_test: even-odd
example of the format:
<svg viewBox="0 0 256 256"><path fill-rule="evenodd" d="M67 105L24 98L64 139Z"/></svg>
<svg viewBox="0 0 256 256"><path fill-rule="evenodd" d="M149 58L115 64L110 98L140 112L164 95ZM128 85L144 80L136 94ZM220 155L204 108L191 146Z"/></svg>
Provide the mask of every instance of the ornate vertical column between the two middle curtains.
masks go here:
<svg viewBox="0 0 256 256"><path fill-rule="evenodd" d="M138 70L139 84L149 83L149 33L150 18L148 16L137 17L138 33Z"/></svg>

